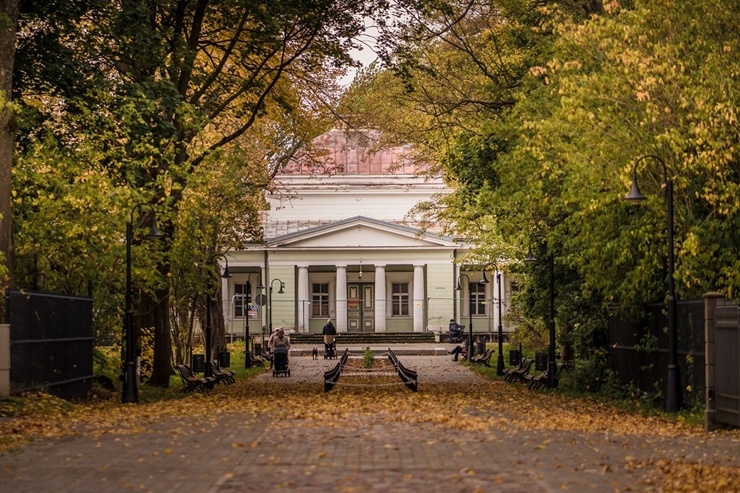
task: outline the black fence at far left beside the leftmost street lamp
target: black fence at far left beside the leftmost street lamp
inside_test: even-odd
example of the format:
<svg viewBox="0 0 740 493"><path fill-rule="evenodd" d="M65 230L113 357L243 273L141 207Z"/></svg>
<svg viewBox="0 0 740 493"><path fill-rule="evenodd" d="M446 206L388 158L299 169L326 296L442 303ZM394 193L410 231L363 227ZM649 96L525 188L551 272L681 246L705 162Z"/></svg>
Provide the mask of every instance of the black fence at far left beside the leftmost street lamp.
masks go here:
<svg viewBox="0 0 740 493"><path fill-rule="evenodd" d="M92 299L9 291L10 392L85 399L92 388Z"/></svg>

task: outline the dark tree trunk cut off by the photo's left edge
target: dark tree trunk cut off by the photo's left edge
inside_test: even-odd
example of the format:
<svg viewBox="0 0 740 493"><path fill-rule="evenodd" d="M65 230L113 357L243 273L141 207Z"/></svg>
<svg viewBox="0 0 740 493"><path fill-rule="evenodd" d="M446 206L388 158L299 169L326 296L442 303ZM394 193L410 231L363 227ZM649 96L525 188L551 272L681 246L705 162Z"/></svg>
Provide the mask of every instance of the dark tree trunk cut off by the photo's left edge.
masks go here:
<svg viewBox="0 0 740 493"><path fill-rule="evenodd" d="M0 254L7 272L0 272L0 295L13 284L13 236L10 210L10 176L13 166L13 111L9 105L13 88L15 40L19 0L0 0ZM2 271L2 269L0 269ZM5 303L0 303L0 321Z"/></svg>

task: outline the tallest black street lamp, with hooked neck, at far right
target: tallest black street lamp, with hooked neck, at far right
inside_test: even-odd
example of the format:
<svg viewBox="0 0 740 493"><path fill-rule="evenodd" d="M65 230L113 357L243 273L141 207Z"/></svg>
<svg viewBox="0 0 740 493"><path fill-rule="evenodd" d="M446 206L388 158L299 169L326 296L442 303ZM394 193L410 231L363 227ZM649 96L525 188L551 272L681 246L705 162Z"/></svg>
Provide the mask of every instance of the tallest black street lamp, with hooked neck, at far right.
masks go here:
<svg viewBox="0 0 740 493"><path fill-rule="evenodd" d="M642 202L646 197L637 186L637 165L643 159L655 159L663 167L663 186L668 216L668 387L666 389L666 411L675 412L681 407L681 375L678 371L678 327L676 324L676 288L673 279L673 180L668 178L668 167L658 156L648 154L639 157L632 169L632 186L624 200L631 203Z"/></svg>

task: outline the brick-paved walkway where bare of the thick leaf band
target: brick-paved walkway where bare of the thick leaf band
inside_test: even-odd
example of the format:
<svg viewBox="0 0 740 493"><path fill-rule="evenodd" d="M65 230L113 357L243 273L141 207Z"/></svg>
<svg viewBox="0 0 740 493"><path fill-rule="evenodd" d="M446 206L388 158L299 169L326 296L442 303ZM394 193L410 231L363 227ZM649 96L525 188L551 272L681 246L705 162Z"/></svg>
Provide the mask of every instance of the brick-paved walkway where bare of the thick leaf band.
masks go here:
<svg viewBox="0 0 740 493"><path fill-rule="evenodd" d="M418 371L420 388L488 385L446 352L399 358ZM293 386L315 399L334 398L321 391L323 371L334 364L296 354L291 377L265 373L251 385L288 391ZM397 399L408 393L401 388ZM451 412L475 419L474 411ZM418 413L423 417L424 409ZM646 483L648 471L630 464L681 457L740 467L737 435L651 437L646 446L644 436L609 432L515 427L480 432L457 429L454 420L449 428L423 419L409 423L394 419L392 406L385 415L340 426L331 416L326 425L320 417L300 417L300 410L292 416L245 410L214 419L152 418L136 433L41 440L0 455L0 485L13 493L666 491ZM717 491L732 488L737 491L738 485Z"/></svg>

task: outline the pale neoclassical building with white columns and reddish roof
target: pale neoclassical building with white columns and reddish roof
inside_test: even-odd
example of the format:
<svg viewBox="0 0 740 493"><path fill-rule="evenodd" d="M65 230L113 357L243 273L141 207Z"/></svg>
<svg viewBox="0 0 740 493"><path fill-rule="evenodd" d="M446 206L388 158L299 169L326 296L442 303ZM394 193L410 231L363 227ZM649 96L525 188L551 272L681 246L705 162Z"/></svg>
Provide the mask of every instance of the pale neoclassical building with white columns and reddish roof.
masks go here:
<svg viewBox="0 0 740 493"><path fill-rule="evenodd" d="M333 171L292 163L279 177L284 191L267 196L265 243L228 254L227 333L320 333L328 318L340 332L446 331L451 318L492 332L505 276L498 300L493 273L484 284L481 266L456 262L467 245L404 222L444 182L417 176L406 148L370 152L364 134L334 130L314 145Z"/></svg>

